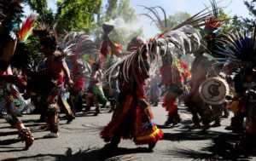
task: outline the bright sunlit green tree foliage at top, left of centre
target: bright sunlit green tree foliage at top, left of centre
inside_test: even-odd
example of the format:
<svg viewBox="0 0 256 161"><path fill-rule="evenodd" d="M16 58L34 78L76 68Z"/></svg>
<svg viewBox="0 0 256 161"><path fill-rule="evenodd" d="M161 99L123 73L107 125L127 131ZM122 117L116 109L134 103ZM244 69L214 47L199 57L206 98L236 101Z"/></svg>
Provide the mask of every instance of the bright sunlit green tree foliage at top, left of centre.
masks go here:
<svg viewBox="0 0 256 161"><path fill-rule="evenodd" d="M58 31L90 32L96 26L102 0L59 0L55 22Z"/></svg>

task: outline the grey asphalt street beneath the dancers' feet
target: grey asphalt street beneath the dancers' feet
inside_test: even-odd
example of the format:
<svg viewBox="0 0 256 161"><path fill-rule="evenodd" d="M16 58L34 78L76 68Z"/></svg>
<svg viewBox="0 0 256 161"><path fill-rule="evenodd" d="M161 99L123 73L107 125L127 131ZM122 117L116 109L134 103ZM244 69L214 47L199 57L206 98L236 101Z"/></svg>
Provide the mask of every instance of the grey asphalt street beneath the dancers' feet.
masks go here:
<svg viewBox="0 0 256 161"><path fill-rule="evenodd" d="M180 110L183 120L175 127L162 125L166 121L166 112L160 105L152 109L156 123L165 133L154 152L148 152L147 146L136 147L130 140L121 141L117 152L103 151L105 143L99 132L112 116L108 108L103 108L97 117L92 116L93 113L78 113L71 124L61 119L60 136L57 139L43 138L48 131L38 129L40 124L33 123L39 115L23 115L21 119L35 136L35 142L28 151L22 151L25 144L19 140L16 130L11 129L1 118L0 160L256 160L255 155L253 158L251 154L244 156L232 150L232 144L238 140L238 136L224 129L230 124L229 119L222 120L221 127L210 129L204 134L201 130L188 131L191 115L184 107Z"/></svg>

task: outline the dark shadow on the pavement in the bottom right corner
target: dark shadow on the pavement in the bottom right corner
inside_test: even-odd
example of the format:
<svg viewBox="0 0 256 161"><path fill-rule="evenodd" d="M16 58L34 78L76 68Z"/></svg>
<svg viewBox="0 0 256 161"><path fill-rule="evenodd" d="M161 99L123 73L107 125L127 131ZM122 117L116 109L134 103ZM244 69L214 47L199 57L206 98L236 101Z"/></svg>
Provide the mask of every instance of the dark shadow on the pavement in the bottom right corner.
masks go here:
<svg viewBox="0 0 256 161"><path fill-rule="evenodd" d="M184 132L177 134L165 134L164 138L168 141L201 141L212 139L212 146L202 147L200 151L189 148L177 148L160 152L163 155L170 155L175 158L190 158L195 160L247 160L255 157L255 151L239 151L235 144L239 141L239 135L209 131L207 134L199 132Z"/></svg>

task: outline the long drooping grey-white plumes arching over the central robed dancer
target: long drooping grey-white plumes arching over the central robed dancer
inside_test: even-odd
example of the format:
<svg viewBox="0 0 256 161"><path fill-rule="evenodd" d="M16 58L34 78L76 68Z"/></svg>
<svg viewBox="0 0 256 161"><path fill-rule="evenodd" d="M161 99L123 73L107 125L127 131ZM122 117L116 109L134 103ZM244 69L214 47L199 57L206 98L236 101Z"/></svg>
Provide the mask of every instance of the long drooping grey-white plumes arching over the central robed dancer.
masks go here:
<svg viewBox="0 0 256 161"><path fill-rule="evenodd" d="M162 55L174 55L174 50L183 51L183 54L192 52L201 45L201 35L193 26L183 26L177 30L166 32L162 37L150 39L139 49L118 60L106 72L108 82L113 78L123 78L126 83L135 78L141 84L143 78L149 77L150 62ZM162 50L163 52L160 52ZM116 72L118 71L118 72ZM115 72L115 74L113 74Z"/></svg>

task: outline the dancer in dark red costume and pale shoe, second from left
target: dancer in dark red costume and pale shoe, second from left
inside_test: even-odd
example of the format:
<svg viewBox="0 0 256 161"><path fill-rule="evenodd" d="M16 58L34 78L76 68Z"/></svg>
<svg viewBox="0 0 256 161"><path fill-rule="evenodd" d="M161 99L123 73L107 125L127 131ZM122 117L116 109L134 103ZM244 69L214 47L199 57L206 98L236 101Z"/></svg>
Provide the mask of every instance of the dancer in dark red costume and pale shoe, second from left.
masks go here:
<svg viewBox="0 0 256 161"><path fill-rule="evenodd" d="M47 59L47 64L44 69L43 76L39 77L44 87L43 103L46 108L46 122L49 125L50 133L44 135L44 137L58 137L58 121L57 113L59 111L59 101L61 101L61 87L63 84L64 74L67 77L67 84L73 85L73 81L70 78L69 69L67 68L66 61L64 60L67 55L70 55L68 49L57 48L57 38L55 32L44 24L38 26L33 32L38 35L40 40L40 49ZM43 78L43 80L42 80ZM44 82L43 82L44 81ZM59 104L57 104L59 103Z"/></svg>

